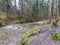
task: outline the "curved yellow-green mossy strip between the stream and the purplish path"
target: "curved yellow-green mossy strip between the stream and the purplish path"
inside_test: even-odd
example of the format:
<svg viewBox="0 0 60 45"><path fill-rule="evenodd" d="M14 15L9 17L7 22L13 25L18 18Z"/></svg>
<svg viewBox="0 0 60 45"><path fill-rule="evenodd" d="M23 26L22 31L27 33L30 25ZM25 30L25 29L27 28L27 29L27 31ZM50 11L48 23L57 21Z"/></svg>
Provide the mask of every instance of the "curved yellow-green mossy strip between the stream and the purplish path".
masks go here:
<svg viewBox="0 0 60 45"><path fill-rule="evenodd" d="M25 36L24 36L24 38L22 39L21 44L22 44L22 45L26 45L26 44L27 44L27 41L28 41L28 38L29 38L30 36L34 36L34 35L39 34L38 30L40 30L42 27L43 27L43 25L38 26L38 27L36 27L35 29L30 29L30 30L28 30L28 31L25 33Z"/></svg>

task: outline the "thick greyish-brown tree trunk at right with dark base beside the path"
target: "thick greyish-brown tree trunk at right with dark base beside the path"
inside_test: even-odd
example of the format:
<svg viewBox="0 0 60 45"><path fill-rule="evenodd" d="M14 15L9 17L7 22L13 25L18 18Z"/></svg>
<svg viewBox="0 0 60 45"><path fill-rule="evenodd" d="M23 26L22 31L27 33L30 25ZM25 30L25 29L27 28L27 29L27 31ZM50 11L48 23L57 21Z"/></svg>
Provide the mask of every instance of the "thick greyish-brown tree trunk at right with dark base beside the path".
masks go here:
<svg viewBox="0 0 60 45"><path fill-rule="evenodd" d="M57 0L52 0L53 1L53 25L57 26Z"/></svg>

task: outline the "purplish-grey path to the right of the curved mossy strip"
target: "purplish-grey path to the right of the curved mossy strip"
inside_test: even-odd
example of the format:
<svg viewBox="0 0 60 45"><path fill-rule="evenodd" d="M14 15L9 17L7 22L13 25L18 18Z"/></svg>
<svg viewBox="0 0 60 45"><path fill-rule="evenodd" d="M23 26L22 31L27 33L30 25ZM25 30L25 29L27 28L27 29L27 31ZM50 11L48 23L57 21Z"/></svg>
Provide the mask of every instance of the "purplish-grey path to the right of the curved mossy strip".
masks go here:
<svg viewBox="0 0 60 45"><path fill-rule="evenodd" d="M60 41L53 41L51 37L51 34L54 31L60 31L60 26L58 26L57 28L46 27L45 29L48 30L40 33L37 36L31 36L27 43L31 45L60 45Z"/></svg>

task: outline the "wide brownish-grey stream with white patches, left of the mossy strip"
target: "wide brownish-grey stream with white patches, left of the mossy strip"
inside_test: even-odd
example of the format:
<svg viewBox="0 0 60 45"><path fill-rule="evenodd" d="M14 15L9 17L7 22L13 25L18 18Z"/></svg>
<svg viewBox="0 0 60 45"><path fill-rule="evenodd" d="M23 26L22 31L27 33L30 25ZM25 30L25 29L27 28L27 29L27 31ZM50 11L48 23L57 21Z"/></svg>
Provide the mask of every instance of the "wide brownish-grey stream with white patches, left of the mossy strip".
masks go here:
<svg viewBox="0 0 60 45"><path fill-rule="evenodd" d="M37 24L11 24L0 28L0 45L21 45L25 32Z"/></svg>

